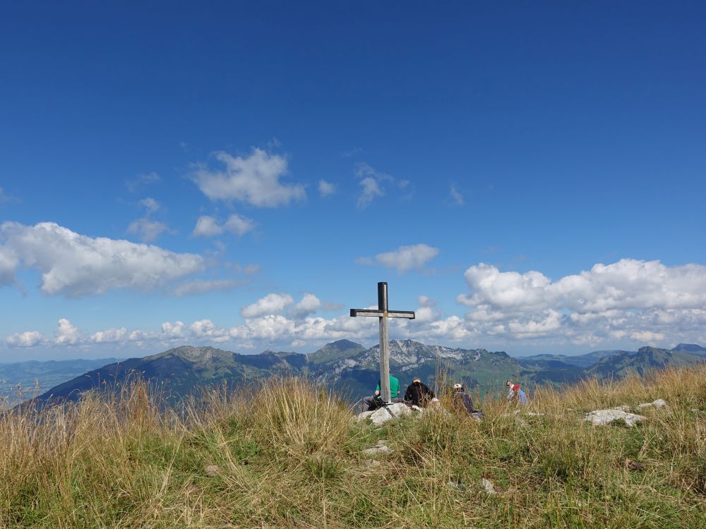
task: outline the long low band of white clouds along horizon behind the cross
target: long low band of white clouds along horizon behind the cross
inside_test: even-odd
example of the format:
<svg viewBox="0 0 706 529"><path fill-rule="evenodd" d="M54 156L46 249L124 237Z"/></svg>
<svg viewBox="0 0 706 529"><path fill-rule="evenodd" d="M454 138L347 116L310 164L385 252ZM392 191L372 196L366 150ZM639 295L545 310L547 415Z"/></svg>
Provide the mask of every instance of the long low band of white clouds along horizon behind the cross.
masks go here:
<svg viewBox="0 0 706 529"><path fill-rule="evenodd" d="M507 348L510 352L551 344L556 351L576 348L666 346L680 341L706 343L706 267L669 267L659 262L623 260L551 280L540 272L501 272L489 265L469 267L465 318L442 316L434 300L419 296L415 320L390 320L390 336L461 347ZM578 278L578 279L577 279ZM657 279L655 279L657 278ZM640 292L638 292L640 291ZM124 328L84 334L68 320L59 322L54 340L37 331L13 334L8 346L62 346L90 343L140 347L176 343L231 343L234 348L316 348L325 341L374 343L375 318L316 317L319 298L305 293L295 304L286 293L271 293L241 310L246 320L232 327L203 319L185 325L166 322L159 330ZM337 307L341 310L342 307ZM289 310L287 310L289 309ZM506 347L503 347L506 346Z"/></svg>

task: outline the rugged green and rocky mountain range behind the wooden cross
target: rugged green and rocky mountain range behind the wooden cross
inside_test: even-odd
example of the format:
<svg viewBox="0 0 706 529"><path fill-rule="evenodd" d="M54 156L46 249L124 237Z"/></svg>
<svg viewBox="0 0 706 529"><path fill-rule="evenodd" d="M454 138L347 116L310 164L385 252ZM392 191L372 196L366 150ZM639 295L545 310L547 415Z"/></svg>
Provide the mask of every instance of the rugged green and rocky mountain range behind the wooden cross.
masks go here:
<svg viewBox="0 0 706 529"><path fill-rule="evenodd" d="M525 385L563 384L585 377L619 378L666 365L706 361L706 348L680 343L673 349L642 347L638 351L594 351L585 355L533 355L513 358L503 351L425 345L392 340L390 372L406 387L418 376L430 387L462 382L480 391L502 390L505 379ZM310 377L350 400L370 394L378 382L379 346L365 348L348 340L328 343L314 353L264 351L244 355L213 347L180 346L145 358L102 365L57 384L37 397L46 402L76 399L80 392L114 387L140 375L158 385L169 401L195 387L227 383L230 387L273 375ZM7 367L7 366L3 366Z"/></svg>

